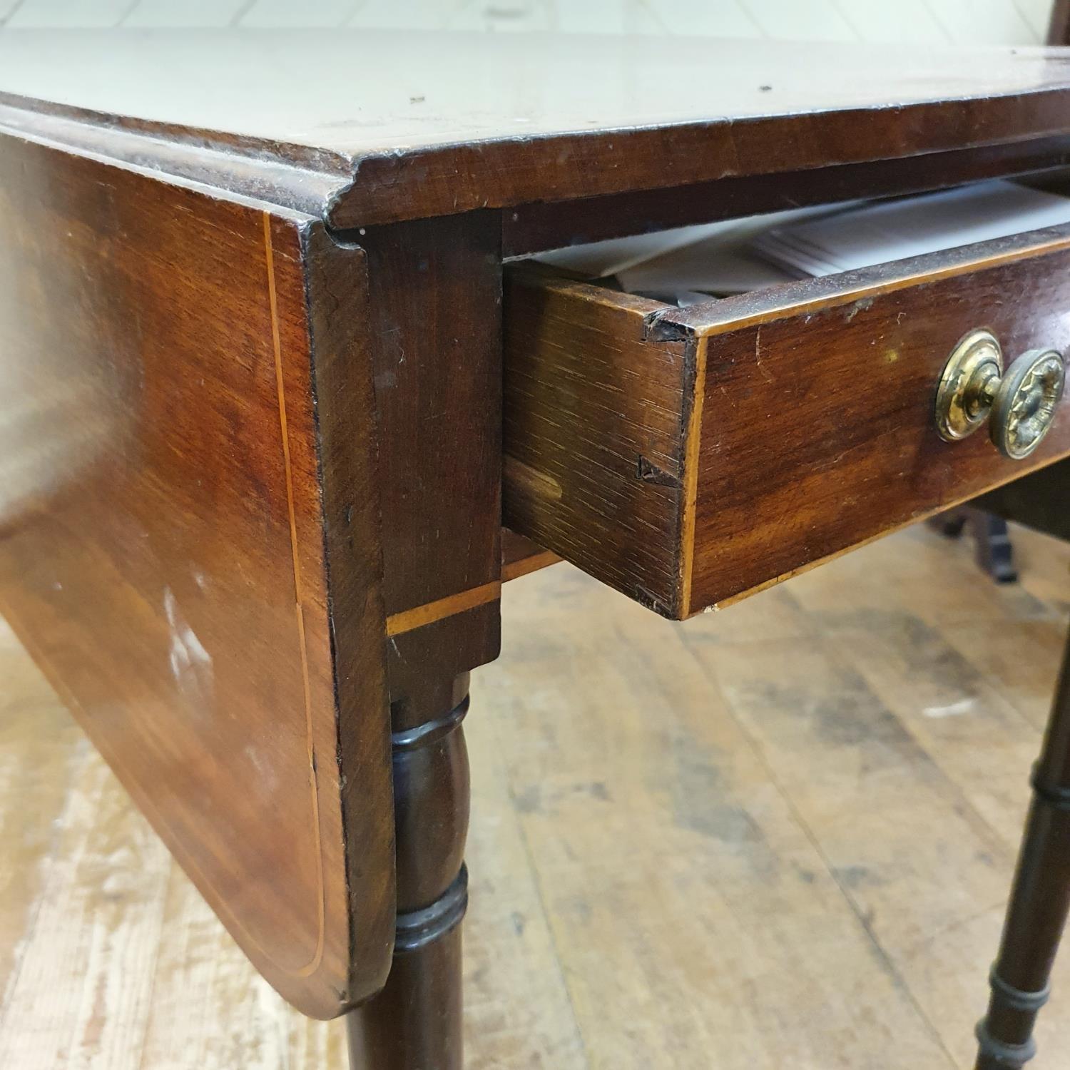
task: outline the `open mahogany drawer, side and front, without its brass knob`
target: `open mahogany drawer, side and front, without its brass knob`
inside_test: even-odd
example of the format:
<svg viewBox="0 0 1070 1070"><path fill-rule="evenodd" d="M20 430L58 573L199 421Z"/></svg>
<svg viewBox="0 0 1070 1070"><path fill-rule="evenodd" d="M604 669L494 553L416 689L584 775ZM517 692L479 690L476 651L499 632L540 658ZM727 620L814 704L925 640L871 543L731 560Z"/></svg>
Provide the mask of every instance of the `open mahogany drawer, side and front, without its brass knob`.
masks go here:
<svg viewBox="0 0 1070 1070"><path fill-rule="evenodd" d="M1066 352L1070 226L683 309L517 264L505 523L667 616L752 593L1070 454L1060 384L1022 459L942 438L979 330Z"/></svg>

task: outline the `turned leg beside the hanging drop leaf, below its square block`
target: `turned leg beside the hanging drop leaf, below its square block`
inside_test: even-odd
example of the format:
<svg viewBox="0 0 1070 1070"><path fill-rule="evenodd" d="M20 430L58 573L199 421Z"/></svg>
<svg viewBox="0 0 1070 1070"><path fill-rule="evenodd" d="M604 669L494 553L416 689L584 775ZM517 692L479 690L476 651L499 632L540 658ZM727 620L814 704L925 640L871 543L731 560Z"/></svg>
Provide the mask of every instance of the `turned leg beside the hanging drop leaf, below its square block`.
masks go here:
<svg viewBox="0 0 1070 1070"><path fill-rule="evenodd" d="M394 964L383 991L349 1017L352 1070L461 1070L468 705L465 696L429 720L407 705L394 712Z"/></svg>

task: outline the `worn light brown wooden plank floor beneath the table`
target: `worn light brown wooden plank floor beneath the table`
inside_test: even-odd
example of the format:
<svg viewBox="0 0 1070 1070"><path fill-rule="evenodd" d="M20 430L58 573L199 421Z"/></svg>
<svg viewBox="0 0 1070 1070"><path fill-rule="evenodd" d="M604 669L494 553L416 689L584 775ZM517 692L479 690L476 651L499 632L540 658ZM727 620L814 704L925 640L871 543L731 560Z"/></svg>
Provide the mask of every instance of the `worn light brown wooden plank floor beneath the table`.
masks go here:
<svg viewBox="0 0 1070 1070"><path fill-rule="evenodd" d="M472 1070L972 1066L1070 615L1070 548L1015 544L1017 586L915 528L687 625L510 583L468 720ZM0 1067L340 1070L6 631L0 679ZM1037 1070L1070 953L1055 983Z"/></svg>

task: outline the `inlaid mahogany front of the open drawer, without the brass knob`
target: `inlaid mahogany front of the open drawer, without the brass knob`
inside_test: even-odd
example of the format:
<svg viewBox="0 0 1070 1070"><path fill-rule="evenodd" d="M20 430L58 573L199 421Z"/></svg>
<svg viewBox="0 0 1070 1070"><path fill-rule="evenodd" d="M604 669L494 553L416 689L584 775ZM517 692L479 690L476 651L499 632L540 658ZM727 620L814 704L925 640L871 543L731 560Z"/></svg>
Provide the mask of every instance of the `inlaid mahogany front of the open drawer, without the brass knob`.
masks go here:
<svg viewBox="0 0 1070 1070"><path fill-rule="evenodd" d="M984 431L943 442L932 415L947 356L975 327L995 333L1005 364L1070 348L1067 235L946 259L824 280L827 303L801 284L712 309L699 328L709 334L687 613L1070 452L1066 403L1024 462L1000 457ZM779 310L766 317L763 301Z"/></svg>

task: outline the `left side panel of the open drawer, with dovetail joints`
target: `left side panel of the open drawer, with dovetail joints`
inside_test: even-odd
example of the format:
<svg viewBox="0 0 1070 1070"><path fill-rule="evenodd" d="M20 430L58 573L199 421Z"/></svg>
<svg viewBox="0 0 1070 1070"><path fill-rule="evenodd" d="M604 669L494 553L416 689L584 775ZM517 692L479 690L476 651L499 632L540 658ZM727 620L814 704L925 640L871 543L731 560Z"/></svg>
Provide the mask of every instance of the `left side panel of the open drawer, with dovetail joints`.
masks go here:
<svg viewBox="0 0 1070 1070"><path fill-rule="evenodd" d="M669 606L687 368L682 343L645 340L646 318L663 308L509 273L503 516L617 590Z"/></svg>

